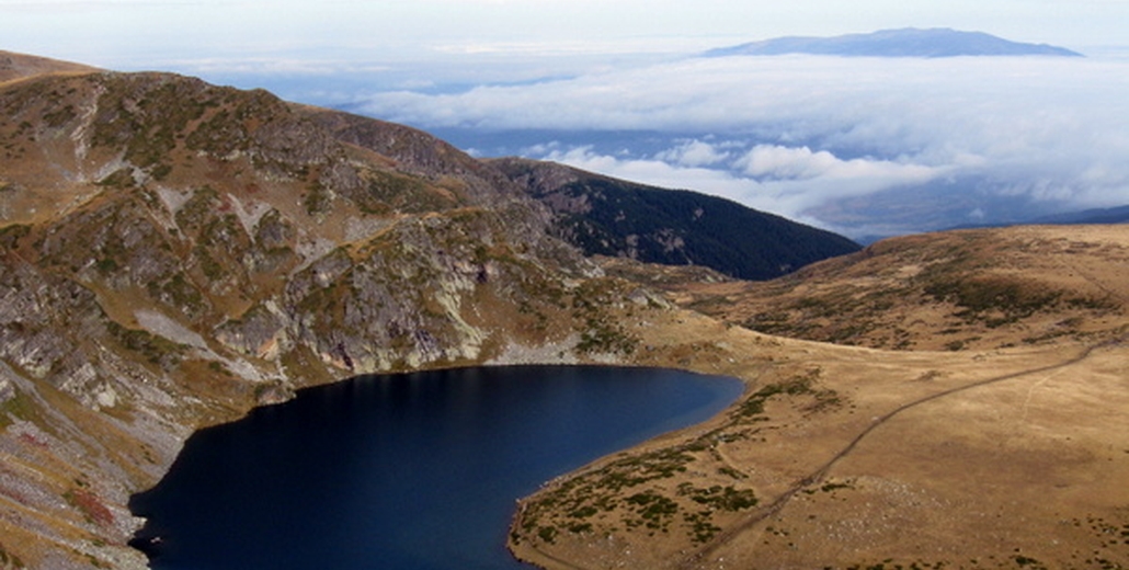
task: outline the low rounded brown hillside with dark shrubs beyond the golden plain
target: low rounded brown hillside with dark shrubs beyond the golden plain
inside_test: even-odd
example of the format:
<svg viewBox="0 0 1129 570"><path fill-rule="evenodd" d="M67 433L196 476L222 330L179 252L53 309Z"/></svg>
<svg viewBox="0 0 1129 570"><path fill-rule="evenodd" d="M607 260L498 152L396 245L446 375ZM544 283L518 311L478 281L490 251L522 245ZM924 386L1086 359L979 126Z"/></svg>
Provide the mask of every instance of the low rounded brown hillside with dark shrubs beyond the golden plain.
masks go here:
<svg viewBox="0 0 1129 570"><path fill-rule="evenodd" d="M978 229L887 239L764 283L667 287L754 331L894 350L1104 337L1129 304L1123 226Z"/></svg>

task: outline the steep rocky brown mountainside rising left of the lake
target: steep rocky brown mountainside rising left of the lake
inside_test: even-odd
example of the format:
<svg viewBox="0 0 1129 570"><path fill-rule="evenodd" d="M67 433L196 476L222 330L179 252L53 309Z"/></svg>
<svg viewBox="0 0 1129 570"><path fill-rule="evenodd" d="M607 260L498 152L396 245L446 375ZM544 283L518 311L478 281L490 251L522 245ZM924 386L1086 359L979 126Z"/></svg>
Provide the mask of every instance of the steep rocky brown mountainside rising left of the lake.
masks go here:
<svg viewBox="0 0 1129 570"><path fill-rule="evenodd" d="M164 73L0 108L0 552L26 564L143 565L130 493L298 387L631 347L548 211L419 131Z"/></svg>

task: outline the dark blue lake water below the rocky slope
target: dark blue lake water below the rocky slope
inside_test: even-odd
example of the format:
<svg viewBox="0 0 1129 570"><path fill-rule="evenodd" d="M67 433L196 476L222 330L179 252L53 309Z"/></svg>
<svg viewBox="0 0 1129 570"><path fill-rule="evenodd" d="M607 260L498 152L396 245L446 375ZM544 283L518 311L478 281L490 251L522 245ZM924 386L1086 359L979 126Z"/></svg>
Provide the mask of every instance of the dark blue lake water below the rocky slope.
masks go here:
<svg viewBox="0 0 1129 570"><path fill-rule="evenodd" d="M193 435L130 501L156 569L522 569L515 501L733 402L729 378L604 367L370 376Z"/></svg>

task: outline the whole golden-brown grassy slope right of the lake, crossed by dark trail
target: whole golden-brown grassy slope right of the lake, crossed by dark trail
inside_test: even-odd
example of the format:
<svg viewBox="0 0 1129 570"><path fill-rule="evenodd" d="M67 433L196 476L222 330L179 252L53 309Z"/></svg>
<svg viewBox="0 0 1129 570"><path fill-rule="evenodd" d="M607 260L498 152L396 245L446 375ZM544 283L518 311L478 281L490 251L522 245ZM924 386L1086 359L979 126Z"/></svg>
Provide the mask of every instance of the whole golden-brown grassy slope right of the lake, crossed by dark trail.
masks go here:
<svg viewBox="0 0 1129 570"><path fill-rule="evenodd" d="M510 547L552 569L1129 568L1127 260L1108 226L892 239L764 283L605 260L726 319L642 342L755 379L546 484Z"/></svg>

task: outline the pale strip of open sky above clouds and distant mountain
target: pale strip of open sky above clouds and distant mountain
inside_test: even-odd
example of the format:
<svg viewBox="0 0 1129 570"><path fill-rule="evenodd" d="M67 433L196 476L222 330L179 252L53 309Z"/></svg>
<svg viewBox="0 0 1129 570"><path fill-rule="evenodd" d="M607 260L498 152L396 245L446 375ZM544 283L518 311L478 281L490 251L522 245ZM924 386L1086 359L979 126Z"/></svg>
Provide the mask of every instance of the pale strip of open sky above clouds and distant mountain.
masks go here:
<svg viewBox="0 0 1129 570"><path fill-rule="evenodd" d="M706 49L895 27L1124 43L1126 0L0 0L5 49L113 67Z"/></svg>

